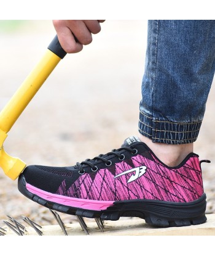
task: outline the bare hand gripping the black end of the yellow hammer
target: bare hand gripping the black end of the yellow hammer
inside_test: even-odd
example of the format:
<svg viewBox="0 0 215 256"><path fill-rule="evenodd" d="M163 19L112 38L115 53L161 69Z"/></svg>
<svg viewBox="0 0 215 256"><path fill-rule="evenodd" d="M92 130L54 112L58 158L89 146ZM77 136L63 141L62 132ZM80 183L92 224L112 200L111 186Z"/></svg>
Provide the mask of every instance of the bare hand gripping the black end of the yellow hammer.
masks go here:
<svg viewBox="0 0 215 256"><path fill-rule="evenodd" d="M76 53L92 42L92 34L100 32L101 22L104 20L53 20L53 26L61 47L67 53Z"/></svg>

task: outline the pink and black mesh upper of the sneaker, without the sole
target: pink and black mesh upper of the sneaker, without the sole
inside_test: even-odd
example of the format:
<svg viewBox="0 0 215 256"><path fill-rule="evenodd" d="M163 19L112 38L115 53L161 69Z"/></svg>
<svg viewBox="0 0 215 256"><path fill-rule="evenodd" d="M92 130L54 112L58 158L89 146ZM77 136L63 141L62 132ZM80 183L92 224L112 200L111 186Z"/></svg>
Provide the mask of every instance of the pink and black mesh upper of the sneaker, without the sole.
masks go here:
<svg viewBox="0 0 215 256"><path fill-rule="evenodd" d="M187 155L178 167L170 168L135 136L120 149L73 167L31 165L23 175L34 188L77 199L190 202L203 194L197 154Z"/></svg>

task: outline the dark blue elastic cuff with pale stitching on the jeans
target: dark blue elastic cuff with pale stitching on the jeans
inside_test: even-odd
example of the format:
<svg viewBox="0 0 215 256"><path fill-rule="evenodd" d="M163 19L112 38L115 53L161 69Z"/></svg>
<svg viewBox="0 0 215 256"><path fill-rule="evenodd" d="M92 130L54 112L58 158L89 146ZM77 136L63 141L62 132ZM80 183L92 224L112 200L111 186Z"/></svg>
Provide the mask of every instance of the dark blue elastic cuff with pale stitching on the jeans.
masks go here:
<svg viewBox="0 0 215 256"><path fill-rule="evenodd" d="M186 144L197 140L202 120L193 123L178 123L153 118L139 112L139 133L152 142Z"/></svg>

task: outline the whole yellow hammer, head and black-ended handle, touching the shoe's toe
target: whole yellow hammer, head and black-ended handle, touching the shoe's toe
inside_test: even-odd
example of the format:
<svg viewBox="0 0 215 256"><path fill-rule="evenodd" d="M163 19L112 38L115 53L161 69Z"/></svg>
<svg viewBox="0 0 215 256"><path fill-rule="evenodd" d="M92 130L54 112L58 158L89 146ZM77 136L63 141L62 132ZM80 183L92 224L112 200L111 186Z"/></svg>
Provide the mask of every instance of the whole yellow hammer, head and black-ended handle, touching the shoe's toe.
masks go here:
<svg viewBox="0 0 215 256"><path fill-rule="evenodd" d="M18 178L25 169L26 163L17 157L12 157L4 151L3 142L7 138L17 118L43 85L53 69L57 66L66 52L60 46L57 36L50 43L42 59L23 81L14 96L0 112L0 167L12 180Z"/></svg>

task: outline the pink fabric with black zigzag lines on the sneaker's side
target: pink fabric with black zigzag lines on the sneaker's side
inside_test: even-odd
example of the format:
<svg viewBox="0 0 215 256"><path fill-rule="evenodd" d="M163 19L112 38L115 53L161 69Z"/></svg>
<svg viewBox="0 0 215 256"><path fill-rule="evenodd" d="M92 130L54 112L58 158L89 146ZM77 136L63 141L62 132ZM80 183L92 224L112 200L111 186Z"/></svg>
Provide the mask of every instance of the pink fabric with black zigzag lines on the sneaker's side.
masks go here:
<svg viewBox="0 0 215 256"><path fill-rule="evenodd" d="M135 171L114 178L124 171L143 166L146 167L145 173L134 181L128 183ZM168 168L153 155L152 160L136 155L129 164L122 161L115 167L81 175L69 189L63 181L56 193L63 197L101 202L132 199L190 202L203 194L203 184L197 156L190 157L182 167Z"/></svg>

